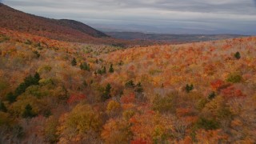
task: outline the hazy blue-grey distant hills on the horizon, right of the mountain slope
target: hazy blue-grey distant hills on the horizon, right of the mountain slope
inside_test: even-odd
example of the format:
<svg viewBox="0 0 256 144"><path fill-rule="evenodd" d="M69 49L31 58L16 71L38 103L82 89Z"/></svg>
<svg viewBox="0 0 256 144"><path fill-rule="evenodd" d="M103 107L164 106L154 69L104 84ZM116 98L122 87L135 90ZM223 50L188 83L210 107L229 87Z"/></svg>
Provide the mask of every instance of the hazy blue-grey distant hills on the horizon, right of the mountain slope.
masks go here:
<svg viewBox="0 0 256 144"><path fill-rule="evenodd" d="M113 38L126 40L141 39L164 42L200 42L245 37L245 35L238 34L144 34L140 32L106 32L106 34Z"/></svg>

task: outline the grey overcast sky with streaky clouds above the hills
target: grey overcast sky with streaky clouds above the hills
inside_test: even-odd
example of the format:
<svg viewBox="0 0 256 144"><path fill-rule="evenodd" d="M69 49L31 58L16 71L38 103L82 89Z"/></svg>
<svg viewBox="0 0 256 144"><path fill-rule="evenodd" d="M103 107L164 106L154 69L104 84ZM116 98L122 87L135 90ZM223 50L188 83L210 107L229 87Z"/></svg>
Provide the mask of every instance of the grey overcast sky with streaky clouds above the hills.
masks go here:
<svg viewBox="0 0 256 144"><path fill-rule="evenodd" d="M101 30L170 34L256 34L256 0L0 0L47 18Z"/></svg>

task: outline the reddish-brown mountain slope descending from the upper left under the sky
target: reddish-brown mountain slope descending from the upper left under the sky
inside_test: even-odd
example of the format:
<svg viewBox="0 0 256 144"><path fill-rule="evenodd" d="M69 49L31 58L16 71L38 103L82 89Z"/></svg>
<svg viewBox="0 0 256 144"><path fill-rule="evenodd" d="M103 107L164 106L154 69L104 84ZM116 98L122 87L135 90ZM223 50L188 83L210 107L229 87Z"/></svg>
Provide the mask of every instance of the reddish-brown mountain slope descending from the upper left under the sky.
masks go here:
<svg viewBox="0 0 256 144"><path fill-rule="evenodd" d="M67 19L50 19L26 14L0 3L0 27L54 38L63 41L88 42L95 38L106 38L106 34L94 28Z"/></svg>

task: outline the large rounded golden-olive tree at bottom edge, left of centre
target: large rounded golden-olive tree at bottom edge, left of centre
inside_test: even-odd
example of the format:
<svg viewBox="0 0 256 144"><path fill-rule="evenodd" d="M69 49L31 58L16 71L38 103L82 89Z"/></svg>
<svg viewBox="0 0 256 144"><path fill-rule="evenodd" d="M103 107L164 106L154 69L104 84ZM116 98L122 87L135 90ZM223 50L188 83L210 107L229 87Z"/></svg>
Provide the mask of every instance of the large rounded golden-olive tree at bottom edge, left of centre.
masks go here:
<svg viewBox="0 0 256 144"><path fill-rule="evenodd" d="M81 141L91 138L93 134L98 133L102 127L102 119L90 105L78 104L70 113L64 114L58 126L60 142L66 139L69 143L72 141ZM65 141L65 140L64 140Z"/></svg>

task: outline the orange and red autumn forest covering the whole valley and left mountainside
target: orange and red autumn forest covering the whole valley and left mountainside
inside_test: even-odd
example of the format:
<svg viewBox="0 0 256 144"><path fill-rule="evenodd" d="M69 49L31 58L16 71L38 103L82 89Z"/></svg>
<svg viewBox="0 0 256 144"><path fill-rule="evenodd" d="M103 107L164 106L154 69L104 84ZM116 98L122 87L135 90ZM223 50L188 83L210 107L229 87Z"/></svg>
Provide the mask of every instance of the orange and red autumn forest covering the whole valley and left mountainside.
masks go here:
<svg viewBox="0 0 256 144"><path fill-rule="evenodd" d="M0 14L0 143L256 142L256 37L124 40Z"/></svg>

